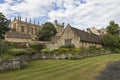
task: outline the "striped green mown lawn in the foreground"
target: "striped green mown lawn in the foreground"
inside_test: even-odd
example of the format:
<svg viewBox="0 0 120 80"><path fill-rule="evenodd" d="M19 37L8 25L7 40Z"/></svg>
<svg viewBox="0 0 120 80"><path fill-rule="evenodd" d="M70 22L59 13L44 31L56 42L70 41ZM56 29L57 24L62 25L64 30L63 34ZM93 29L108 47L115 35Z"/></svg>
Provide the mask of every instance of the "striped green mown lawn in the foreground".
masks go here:
<svg viewBox="0 0 120 80"><path fill-rule="evenodd" d="M105 65L120 60L120 54L81 60L37 60L28 67L0 73L0 80L94 80Z"/></svg>

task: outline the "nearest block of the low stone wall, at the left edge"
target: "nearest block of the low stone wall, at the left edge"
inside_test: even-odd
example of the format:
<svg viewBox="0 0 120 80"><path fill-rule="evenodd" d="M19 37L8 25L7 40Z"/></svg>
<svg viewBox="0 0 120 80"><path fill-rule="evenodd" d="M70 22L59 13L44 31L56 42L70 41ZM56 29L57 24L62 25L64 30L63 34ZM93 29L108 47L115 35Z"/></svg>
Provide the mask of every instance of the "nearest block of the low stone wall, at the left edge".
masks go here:
<svg viewBox="0 0 120 80"><path fill-rule="evenodd" d="M21 61L19 59L0 60L0 70L10 70L21 68Z"/></svg>

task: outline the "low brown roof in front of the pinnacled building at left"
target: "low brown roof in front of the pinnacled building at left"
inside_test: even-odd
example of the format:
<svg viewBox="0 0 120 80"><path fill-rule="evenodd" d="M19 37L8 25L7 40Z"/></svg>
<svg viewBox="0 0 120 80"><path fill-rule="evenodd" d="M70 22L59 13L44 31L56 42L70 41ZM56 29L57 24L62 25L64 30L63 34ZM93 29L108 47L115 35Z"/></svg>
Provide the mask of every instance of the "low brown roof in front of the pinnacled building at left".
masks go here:
<svg viewBox="0 0 120 80"><path fill-rule="evenodd" d="M23 39L31 39L31 36L29 34L21 34L18 32L6 32L7 38L23 38Z"/></svg>

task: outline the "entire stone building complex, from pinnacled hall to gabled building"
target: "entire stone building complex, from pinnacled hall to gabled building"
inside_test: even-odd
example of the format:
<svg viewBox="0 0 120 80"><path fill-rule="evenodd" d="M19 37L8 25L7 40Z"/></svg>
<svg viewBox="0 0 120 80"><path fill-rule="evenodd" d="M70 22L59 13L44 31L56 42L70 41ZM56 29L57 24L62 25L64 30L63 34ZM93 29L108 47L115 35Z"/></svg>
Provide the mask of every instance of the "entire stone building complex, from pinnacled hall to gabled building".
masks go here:
<svg viewBox="0 0 120 80"><path fill-rule="evenodd" d="M20 17L14 19L10 24L10 31L6 33L5 40L10 42L23 42L34 44L45 44L49 49L57 49L61 46L74 45L76 48L96 46L102 47L102 42L98 34L94 30L88 30L88 32L71 27L67 24L64 27L64 23L59 24L57 20L54 22L54 26L57 30L57 34L52 37L49 42L37 41L37 32L41 27L25 21L22 21ZM94 33L95 32L95 33Z"/></svg>

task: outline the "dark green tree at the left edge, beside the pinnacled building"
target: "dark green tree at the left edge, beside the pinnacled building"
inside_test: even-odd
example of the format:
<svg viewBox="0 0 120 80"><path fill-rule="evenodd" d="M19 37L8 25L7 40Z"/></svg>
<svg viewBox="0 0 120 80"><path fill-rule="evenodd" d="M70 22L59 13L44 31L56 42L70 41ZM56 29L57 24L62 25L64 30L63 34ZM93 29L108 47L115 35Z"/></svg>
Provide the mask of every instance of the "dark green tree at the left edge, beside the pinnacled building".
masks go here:
<svg viewBox="0 0 120 80"><path fill-rule="evenodd" d="M4 38L5 32L9 30L9 20L0 13L0 39Z"/></svg>

